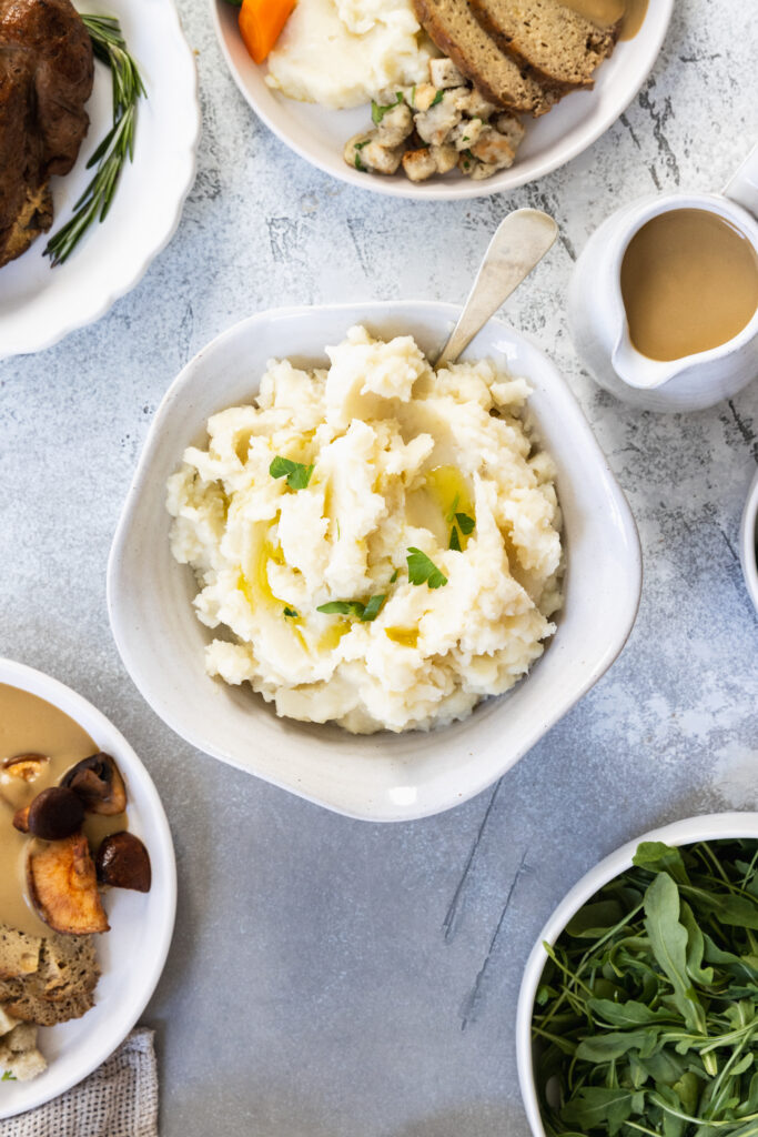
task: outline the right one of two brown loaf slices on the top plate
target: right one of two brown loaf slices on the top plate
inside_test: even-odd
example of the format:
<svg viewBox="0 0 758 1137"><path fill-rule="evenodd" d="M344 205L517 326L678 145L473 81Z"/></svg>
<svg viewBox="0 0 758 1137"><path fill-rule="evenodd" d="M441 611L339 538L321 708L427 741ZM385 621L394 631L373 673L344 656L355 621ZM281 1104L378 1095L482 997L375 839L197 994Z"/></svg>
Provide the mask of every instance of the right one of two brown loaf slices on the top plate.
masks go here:
<svg viewBox="0 0 758 1137"><path fill-rule="evenodd" d="M502 51L564 86L592 86L620 28L620 20L599 27L560 0L470 0L470 6Z"/></svg>

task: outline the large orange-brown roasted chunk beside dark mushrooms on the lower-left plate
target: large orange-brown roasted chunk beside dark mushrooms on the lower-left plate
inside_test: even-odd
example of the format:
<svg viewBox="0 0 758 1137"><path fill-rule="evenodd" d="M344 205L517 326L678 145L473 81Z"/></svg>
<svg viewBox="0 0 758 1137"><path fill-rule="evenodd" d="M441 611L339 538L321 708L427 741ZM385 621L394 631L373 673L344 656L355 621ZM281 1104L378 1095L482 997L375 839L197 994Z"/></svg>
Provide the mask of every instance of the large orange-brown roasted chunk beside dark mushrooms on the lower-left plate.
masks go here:
<svg viewBox="0 0 758 1137"><path fill-rule="evenodd" d="M88 936L109 930L83 833L60 841L33 841L26 856L26 887L38 915L53 931Z"/></svg>

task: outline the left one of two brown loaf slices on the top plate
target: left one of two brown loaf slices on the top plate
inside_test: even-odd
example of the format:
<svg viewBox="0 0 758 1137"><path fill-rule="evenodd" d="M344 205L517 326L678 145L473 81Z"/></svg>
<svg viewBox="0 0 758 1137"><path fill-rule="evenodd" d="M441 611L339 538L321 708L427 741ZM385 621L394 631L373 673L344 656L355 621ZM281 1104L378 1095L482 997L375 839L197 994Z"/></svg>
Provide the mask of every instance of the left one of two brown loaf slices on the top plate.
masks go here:
<svg viewBox="0 0 758 1137"><path fill-rule="evenodd" d="M543 83L500 50L474 17L468 0L414 0L414 10L440 51L495 106L536 116L560 98L558 88Z"/></svg>

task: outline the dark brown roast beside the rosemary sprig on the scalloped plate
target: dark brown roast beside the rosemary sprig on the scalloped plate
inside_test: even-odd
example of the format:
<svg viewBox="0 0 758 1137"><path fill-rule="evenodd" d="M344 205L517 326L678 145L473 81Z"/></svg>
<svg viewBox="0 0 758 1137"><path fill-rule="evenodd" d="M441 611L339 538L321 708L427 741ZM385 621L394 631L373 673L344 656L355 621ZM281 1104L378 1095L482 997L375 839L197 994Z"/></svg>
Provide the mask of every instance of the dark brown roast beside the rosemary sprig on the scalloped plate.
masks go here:
<svg viewBox="0 0 758 1137"><path fill-rule="evenodd" d="M93 77L69 0L0 0L0 267L50 229L50 176L76 161Z"/></svg>

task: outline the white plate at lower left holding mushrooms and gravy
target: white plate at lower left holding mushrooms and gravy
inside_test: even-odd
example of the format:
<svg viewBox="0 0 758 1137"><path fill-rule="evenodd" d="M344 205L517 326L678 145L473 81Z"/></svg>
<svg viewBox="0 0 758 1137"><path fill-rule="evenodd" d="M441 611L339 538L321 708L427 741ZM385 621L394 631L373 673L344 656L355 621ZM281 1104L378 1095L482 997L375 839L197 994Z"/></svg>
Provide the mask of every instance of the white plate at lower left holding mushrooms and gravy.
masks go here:
<svg viewBox="0 0 758 1137"><path fill-rule="evenodd" d="M126 1038L166 962L176 912L176 865L156 787L106 716L58 680L10 659L0 659L0 683L52 703L83 727L99 747L113 754L126 781L130 828L147 845L152 864L152 888L148 894L113 889L106 899L111 930L98 939L102 976L94 1007L82 1019L40 1030L39 1045L48 1069L33 1081L0 1085L2 1119L42 1105L75 1086Z"/></svg>

